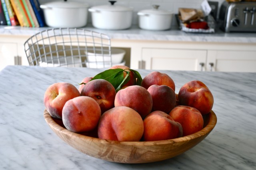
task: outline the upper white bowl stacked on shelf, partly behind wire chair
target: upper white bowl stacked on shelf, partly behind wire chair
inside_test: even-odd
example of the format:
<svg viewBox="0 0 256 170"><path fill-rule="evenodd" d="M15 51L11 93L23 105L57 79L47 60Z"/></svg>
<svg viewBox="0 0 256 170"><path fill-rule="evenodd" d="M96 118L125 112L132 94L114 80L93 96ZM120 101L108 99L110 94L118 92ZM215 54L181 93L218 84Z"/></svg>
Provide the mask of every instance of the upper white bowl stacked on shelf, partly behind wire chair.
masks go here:
<svg viewBox="0 0 256 170"><path fill-rule="evenodd" d="M122 62L125 51L120 48L111 48L111 58L112 58L112 64L119 64ZM88 62L110 62L111 58L107 55L102 55L102 52L100 49L96 50L95 53L92 52L92 50L89 50L87 53L87 61Z"/></svg>

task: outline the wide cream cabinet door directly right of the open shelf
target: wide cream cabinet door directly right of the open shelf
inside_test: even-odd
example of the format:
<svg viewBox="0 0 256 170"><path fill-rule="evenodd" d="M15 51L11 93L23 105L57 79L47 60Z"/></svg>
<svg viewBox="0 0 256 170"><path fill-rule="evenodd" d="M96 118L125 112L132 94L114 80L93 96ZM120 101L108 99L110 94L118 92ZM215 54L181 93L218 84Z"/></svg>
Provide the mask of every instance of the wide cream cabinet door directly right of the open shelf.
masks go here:
<svg viewBox="0 0 256 170"><path fill-rule="evenodd" d="M143 48L144 68L149 70L205 70L206 50Z"/></svg>

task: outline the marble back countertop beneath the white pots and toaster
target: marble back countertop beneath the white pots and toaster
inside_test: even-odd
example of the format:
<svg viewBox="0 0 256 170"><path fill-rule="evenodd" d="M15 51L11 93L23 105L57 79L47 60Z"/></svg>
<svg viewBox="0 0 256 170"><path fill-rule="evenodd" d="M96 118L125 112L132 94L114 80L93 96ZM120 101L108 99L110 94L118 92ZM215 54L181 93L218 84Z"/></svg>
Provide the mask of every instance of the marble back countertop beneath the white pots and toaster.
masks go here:
<svg viewBox="0 0 256 170"><path fill-rule="evenodd" d="M142 30L137 25L133 25L127 30L102 30L94 28L91 25L84 27L85 29L102 32L109 35L112 39L124 40L160 40L160 41L186 41L186 42L231 42L231 43L256 43L256 33L225 33L217 30L214 34L198 34L186 33L171 28L165 31L150 31ZM39 31L49 29L42 28L27 28L20 26L0 26L0 35L24 35L32 36Z"/></svg>

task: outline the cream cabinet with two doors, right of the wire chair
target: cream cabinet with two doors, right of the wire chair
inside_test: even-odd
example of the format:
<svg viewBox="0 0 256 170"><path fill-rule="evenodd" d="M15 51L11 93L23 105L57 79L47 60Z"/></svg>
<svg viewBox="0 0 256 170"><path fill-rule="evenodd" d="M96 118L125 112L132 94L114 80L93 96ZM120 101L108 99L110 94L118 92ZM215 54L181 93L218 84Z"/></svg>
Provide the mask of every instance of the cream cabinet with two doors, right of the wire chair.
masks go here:
<svg viewBox="0 0 256 170"><path fill-rule="evenodd" d="M152 70L256 72L256 45L199 42L144 44L139 62L139 68Z"/></svg>

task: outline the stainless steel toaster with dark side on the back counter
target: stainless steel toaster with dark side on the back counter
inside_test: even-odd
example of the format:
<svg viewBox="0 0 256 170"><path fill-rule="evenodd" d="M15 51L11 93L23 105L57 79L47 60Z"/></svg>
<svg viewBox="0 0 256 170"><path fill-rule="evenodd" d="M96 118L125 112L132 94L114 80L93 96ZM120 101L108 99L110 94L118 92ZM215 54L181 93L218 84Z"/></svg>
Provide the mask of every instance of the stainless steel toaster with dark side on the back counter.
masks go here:
<svg viewBox="0 0 256 170"><path fill-rule="evenodd" d="M225 32L256 32L256 2L224 1L219 22Z"/></svg>

